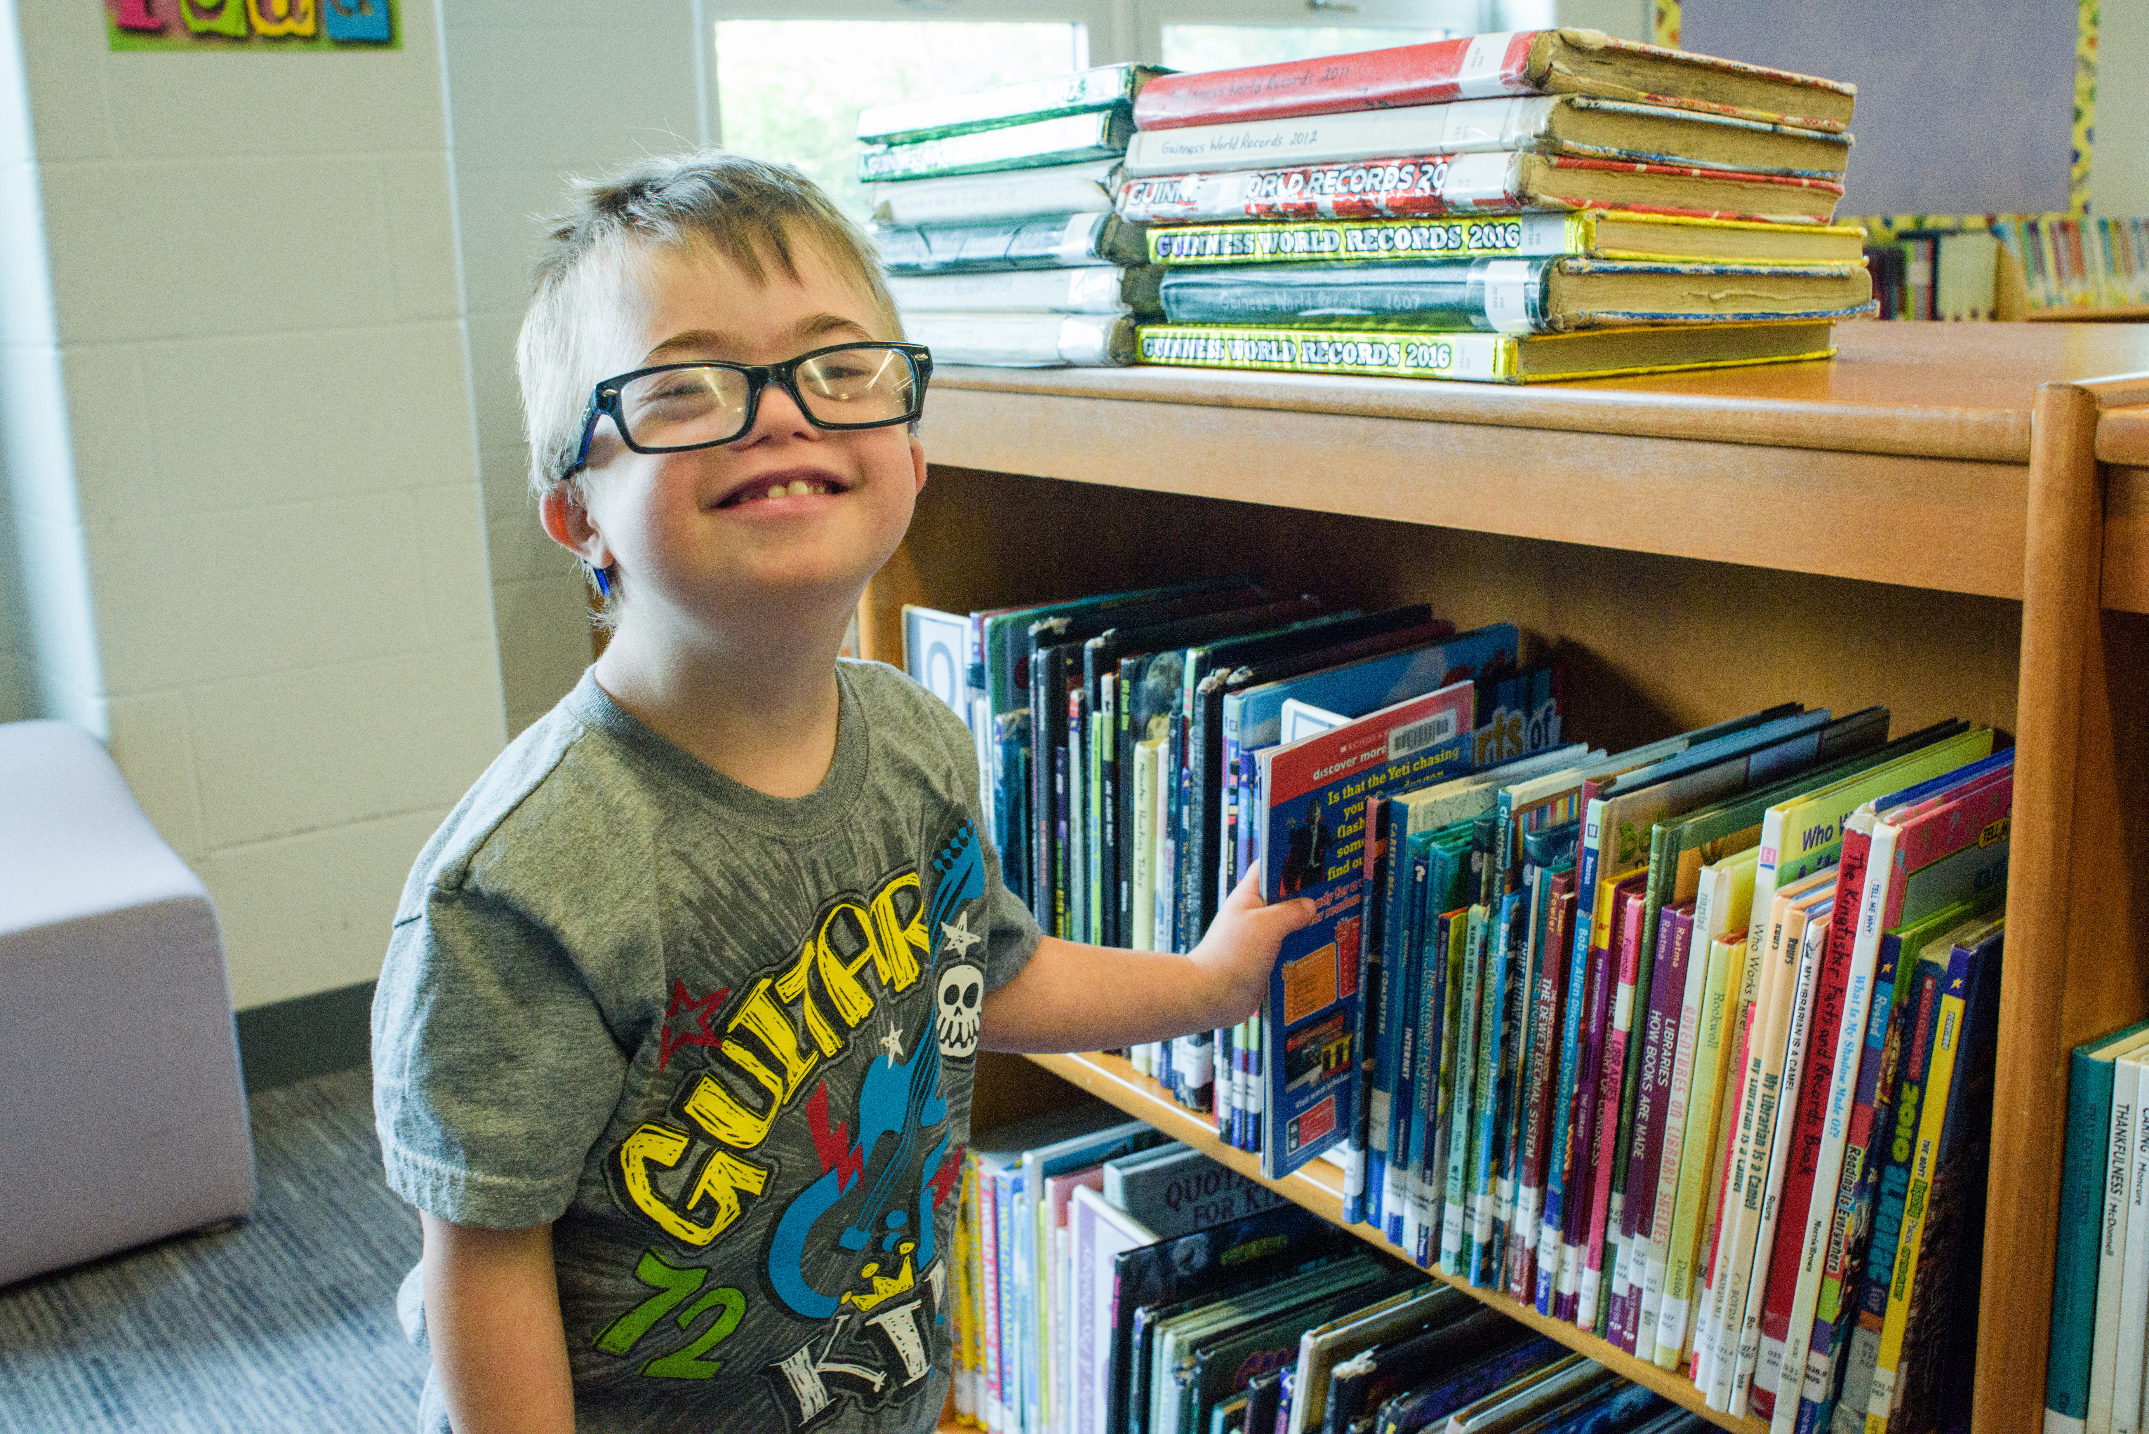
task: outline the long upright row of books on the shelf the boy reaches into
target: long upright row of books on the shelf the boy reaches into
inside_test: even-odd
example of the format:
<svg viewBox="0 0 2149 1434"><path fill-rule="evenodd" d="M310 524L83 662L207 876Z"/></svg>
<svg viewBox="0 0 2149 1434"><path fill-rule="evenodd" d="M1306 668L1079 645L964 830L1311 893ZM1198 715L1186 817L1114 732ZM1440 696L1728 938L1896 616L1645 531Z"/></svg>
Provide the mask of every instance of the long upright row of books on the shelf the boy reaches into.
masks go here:
<svg viewBox="0 0 2149 1434"><path fill-rule="evenodd" d="M1403 1258L1779 1434L1966 1423L1992 729L1782 703L1607 752L1509 623L1253 576L909 617L969 658L1049 931L1188 950L1249 873L1315 903L1253 1019L1128 1051L1264 1176L1330 1159Z"/></svg>

